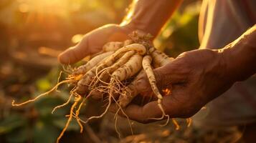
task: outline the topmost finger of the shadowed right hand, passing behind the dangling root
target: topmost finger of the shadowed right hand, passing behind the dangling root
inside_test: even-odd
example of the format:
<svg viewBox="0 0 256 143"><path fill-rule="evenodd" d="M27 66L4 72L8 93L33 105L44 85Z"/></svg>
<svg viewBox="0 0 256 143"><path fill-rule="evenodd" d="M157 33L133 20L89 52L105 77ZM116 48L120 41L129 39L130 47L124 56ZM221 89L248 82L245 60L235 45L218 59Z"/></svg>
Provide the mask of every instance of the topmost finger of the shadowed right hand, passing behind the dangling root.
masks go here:
<svg viewBox="0 0 256 143"><path fill-rule="evenodd" d="M166 87L169 88L171 84L183 82L186 79L187 73L183 71L184 69L180 68L179 61L174 61L171 61L170 64L167 64L166 66L153 69L156 84L160 91ZM136 79L128 85L128 88L125 89L125 92L119 97L121 107L127 106L137 94L149 95L148 93L151 92L152 89L148 82L148 77L143 71L138 74Z"/></svg>

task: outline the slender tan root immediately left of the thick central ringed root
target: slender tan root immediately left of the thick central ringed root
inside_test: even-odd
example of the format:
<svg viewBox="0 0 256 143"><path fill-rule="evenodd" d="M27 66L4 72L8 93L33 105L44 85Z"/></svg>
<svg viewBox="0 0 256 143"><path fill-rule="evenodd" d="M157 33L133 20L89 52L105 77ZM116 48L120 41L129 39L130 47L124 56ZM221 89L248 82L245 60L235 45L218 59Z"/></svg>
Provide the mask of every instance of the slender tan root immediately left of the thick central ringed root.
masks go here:
<svg viewBox="0 0 256 143"><path fill-rule="evenodd" d="M93 83L92 87L95 87L95 85L98 84L99 81L104 82L107 77L113 73L113 71L125 64L131 58L131 56L133 56L133 54L135 54L135 51L126 52L117 62L115 62L115 64L109 66L108 68L105 68L104 71L100 74L100 77L98 77L98 74L96 74L97 80L95 83Z"/></svg>

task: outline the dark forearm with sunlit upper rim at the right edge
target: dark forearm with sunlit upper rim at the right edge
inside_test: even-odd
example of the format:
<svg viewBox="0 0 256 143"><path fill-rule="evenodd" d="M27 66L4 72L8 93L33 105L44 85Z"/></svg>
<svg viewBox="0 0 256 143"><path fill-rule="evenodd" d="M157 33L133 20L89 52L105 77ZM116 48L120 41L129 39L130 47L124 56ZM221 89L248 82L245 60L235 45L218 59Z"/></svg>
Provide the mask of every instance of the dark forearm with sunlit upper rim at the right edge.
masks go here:
<svg viewBox="0 0 256 143"><path fill-rule="evenodd" d="M227 45L220 52L230 79L234 82L247 79L256 73L256 25Z"/></svg>

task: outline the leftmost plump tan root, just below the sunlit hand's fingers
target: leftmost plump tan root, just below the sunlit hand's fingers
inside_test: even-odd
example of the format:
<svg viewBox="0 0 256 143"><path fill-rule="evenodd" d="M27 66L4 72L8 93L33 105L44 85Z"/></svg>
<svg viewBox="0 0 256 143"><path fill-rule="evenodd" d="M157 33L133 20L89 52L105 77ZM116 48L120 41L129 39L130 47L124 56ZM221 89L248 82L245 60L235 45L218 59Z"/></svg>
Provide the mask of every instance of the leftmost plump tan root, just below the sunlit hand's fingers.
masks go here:
<svg viewBox="0 0 256 143"><path fill-rule="evenodd" d="M99 64L100 61L102 61L103 59L105 59L113 53L113 51L108 51L93 57L93 59L90 59L90 61L88 61L86 64L79 66L77 69L74 69L74 71L72 71L72 75L85 74L87 71L89 71L94 66Z"/></svg>

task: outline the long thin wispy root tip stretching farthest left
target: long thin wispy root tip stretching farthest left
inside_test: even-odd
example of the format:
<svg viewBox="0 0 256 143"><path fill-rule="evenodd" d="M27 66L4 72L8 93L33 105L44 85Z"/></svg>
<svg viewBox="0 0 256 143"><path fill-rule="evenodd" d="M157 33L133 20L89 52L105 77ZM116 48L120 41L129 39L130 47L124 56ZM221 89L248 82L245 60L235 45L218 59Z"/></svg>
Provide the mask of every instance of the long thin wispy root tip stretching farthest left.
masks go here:
<svg viewBox="0 0 256 143"><path fill-rule="evenodd" d="M44 92L43 94L39 94L39 96L35 97L34 99L30 99L30 100L28 100L27 102L22 102L22 103L20 103L20 104L15 104L15 103L14 103L15 101L13 100L13 101L11 102L11 105L12 105L13 107L19 107L19 106L22 106L22 105L24 105L24 104L28 104L28 103L30 103L30 102L34 102L34 101L36 101L37 99L39 99L40 97L43 97L44 95L47 95L47 94L49 94L49 93L51 93L51 92L54 92L54 90L57 89L57 87L59 87L60 84L65 84L65 83L70 83L70 82L72 82L72 81L71 81L71 80L65 80L65 81L59 82L58 84L55 85L55 87L53 87L52 89L50 89L48 92Z"/></svg>

